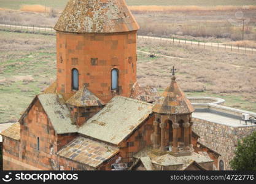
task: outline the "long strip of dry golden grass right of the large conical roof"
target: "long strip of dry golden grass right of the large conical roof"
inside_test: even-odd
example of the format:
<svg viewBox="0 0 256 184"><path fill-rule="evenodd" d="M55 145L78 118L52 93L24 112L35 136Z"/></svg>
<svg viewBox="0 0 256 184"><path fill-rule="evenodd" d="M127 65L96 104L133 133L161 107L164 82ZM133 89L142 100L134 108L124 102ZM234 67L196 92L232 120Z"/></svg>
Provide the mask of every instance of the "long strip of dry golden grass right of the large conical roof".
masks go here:
<svg viewBox="0 0 256 184"><path fill-rule="evenodd" d="M145 12L184 12L184 11L228 11L243 9L241 6L130 6L134 13ZM247 10L256 10L256 6L246 6Z"/></svg>

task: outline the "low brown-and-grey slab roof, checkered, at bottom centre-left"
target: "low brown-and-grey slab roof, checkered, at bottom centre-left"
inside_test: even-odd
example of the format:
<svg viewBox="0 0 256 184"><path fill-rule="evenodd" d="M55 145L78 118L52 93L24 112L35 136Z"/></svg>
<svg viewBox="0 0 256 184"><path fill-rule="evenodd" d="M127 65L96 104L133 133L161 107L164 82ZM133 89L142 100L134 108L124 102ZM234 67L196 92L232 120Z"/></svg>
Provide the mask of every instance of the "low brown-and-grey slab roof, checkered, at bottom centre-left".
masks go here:
<svg viewBox="0 0 256 184"><path fill-rule="evenodd" d="M57 155L96 168L118 152L117 147L84 137L77 137L58 151Z"/></svg>

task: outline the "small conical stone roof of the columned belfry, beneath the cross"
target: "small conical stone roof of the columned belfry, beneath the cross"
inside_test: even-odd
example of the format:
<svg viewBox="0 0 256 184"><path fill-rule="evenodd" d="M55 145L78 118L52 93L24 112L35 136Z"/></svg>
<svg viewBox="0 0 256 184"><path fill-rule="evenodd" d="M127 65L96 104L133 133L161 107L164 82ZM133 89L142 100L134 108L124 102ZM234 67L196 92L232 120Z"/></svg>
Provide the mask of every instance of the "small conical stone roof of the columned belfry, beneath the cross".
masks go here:
<svg viewBox="0 0 256 184"><path fill-rule="evenodd" d="M155 103L153 112L166 114L192 113L193 108L173 76L171 85L161 94L160 99Z"/></svg>

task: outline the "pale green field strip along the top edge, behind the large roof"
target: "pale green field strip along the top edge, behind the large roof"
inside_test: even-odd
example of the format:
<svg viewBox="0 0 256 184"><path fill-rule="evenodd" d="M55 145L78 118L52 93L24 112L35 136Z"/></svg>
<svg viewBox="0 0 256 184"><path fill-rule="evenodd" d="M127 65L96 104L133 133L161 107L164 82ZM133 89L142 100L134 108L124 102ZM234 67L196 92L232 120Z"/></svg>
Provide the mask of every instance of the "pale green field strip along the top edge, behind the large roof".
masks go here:
<svg viewBox="0 0 256 184"><path fill-rule="evenodd" d="M0 7L20 9L27 4L41 4L55 9L63 9L68 0L0 0ZM157 5L157 6L246 6L256 5L254 0L126 0L128 6Z"/></svg>

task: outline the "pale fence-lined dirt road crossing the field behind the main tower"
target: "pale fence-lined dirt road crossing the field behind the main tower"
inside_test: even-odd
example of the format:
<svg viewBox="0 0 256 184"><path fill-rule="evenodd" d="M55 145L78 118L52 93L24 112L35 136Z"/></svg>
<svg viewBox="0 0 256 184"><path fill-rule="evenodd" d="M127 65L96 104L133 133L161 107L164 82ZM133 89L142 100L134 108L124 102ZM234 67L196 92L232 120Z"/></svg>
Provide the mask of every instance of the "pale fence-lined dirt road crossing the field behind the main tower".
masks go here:
<svg viewBox="0 0 256 184"><path fill-rule="evenodd" d="M6 25L0 24L0 29L12 30L12 31L29 31L32 33L55 33L55 30L51 26L27 26L27 25ZM204 49L215 49L215 50L225 50L229 52L237 52L237 53L247 53L247 54L255 54L255 48L249 47L239 47L233 45L227 45L217 42L203 42L200 40L188 40L188 39L178 39L176 37L153 37L153 36L143 36L138 35L141 39L151 39L151 40L160 40L163 42L169 42L173 44L183 44L190 45L192 47L204 48Z"/></svg>

